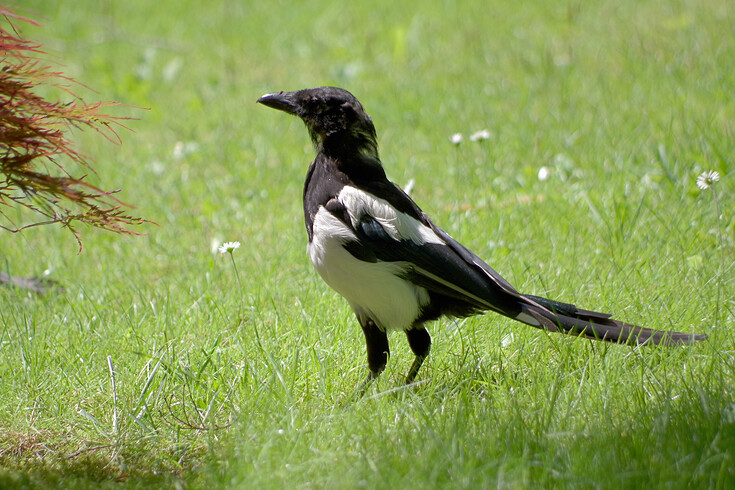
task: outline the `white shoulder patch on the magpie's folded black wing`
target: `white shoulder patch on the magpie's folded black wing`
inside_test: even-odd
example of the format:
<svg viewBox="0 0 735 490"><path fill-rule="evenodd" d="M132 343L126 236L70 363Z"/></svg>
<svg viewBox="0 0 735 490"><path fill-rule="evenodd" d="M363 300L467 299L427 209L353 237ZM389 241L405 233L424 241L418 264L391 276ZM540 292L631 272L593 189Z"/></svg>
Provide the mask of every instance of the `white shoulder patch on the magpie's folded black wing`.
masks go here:
<svg viewBox="0 0 735 490"><path fill-rule="evenodd" d="M337 200L347 209L353 227L357 227L360 218L368 214L375 218L386 233L396 241L411 240L419 245L424 243L446 245L434 230L406 213L397 211L385 199L352 186L345 186L337 196Z"/></svg>

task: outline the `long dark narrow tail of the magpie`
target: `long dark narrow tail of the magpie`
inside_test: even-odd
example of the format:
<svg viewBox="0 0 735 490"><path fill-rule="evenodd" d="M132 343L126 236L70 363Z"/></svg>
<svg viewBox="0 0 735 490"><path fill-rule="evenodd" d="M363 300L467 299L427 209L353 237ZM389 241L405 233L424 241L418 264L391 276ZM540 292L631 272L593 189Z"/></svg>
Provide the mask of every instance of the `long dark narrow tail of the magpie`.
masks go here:
<svg viewBox="0 0 735 490"><path fill-rule="evenodd" d="M668 332L639 327L612 319L612 315L582 310L575 305L538 296L521 295L524 323L551 332L578 335L619 344L675 346L707 339L703 334ZM530 318L526 317L529 316ZM538 323L538 324L536 324Z"/></svg>

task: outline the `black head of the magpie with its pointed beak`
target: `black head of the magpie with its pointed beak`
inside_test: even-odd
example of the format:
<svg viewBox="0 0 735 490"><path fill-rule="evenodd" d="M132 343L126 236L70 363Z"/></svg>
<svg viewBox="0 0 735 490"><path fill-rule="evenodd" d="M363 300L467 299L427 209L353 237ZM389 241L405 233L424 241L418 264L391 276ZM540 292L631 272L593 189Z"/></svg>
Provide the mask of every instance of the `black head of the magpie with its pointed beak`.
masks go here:
<svg viewBox="0 0 735 490"><path fill-rule="evenodd" d="M266 94L260 104L299 116L320 151L358 150L377 158L375 126L360 101L347 90L318 87Z"/></svg>

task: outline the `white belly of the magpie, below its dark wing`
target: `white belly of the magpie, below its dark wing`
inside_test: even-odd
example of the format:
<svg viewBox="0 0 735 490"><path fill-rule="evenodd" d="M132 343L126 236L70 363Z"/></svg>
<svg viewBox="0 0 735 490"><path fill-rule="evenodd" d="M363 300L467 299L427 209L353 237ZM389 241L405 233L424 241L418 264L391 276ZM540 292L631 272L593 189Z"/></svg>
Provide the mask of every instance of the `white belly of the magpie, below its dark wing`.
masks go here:
<svg viewBox="0 0 735 490"><path fill-rule="evenodd" d="M401 262L365 262L342 246L356 240L352 230L321 208L314 217L309 258L324 281L345 297L364 321L372 319L386 330L406 330L418 318L421 306L429 302L424 288L414 286L396 274Z"/></svg>

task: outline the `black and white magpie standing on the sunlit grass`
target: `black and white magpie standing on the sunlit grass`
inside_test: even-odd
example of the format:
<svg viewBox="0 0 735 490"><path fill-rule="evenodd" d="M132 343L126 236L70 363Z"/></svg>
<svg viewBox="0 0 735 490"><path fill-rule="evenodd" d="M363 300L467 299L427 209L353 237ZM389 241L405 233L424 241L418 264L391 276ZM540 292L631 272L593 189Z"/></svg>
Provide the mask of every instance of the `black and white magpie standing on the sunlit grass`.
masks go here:
<svg viewBox="0 0 735 490"><path fill-rule="evenodd" d="M706 339L518 292L388 180L373 122L350 92L318 87L266 94L257 102L300 117L314 144L303 192L307 251L362 327L370 370L365 384L385 369L388 332L395 330L406 333L415 355L406 376L413 382L431 349L425 324L441 316L494 311L549 332L629 345Z"/></svg>

